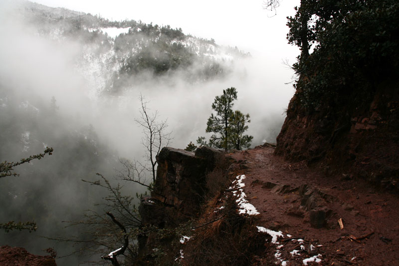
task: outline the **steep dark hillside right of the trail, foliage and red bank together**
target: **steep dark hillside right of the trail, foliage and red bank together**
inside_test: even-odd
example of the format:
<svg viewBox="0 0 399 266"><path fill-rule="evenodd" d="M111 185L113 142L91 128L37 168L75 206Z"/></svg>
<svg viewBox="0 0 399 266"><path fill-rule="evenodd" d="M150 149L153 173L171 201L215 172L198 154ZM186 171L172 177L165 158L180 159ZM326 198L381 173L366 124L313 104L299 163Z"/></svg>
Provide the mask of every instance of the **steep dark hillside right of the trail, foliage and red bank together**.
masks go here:
<svg viewBox="0 0 399 266"><path fill-rule="evenodd" d="M288 39L302 53L276 154L399 191L398 21L394 0L297 9Z"/></svg>

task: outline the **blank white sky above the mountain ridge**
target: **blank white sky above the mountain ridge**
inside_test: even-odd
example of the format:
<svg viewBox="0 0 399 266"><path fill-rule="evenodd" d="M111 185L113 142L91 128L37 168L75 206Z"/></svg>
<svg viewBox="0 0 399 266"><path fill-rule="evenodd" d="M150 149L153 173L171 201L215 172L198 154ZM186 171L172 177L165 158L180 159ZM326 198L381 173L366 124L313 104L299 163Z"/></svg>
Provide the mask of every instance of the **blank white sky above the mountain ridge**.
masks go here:
<svg viewBox="0 0 399 266"><path fill-rule="evenodd" d="M282 0L277 15L263 9L263 0L34 0L68 9L100 14L113 20L135 19L145 23L181 27L187 34L213 38L216 43L238 46L253 55L281 62L293 60L298 51L287 44L286 16L293 15L299 0Z"/></svg>

